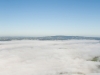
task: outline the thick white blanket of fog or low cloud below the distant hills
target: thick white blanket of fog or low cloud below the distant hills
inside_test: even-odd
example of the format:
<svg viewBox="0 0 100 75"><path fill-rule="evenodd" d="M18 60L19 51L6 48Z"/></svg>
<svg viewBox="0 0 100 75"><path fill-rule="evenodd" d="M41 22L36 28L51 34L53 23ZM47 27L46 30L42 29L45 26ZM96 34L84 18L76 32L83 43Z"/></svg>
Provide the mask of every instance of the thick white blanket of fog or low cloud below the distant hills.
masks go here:
<svg viewBox="0 0 100 75"><path fill-rule="evenodd" d="M100 75L100 41L0 41L0 75Z"/></svg>

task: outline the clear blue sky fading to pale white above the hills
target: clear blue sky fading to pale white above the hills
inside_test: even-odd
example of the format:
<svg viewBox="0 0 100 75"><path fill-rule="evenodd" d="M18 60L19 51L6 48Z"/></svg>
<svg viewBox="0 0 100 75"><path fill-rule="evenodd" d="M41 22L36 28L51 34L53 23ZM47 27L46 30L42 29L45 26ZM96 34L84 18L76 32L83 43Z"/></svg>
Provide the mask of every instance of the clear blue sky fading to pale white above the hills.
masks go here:
<svg viewBox="0 0 100 75"><path fill-rule="evenodd" d="M98 36L100 0L0 0L0 36Z"/></svg>

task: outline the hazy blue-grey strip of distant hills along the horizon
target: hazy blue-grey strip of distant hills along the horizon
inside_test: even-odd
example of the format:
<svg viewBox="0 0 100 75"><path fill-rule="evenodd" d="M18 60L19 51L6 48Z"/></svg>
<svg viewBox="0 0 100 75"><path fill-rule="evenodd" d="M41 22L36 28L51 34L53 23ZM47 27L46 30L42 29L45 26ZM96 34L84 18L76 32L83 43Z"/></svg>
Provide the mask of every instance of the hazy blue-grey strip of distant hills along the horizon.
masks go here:
<svg viewBox="0 0 100 75"><path fill-rule="evenodd" d="M84 36L45 36L45 37L0 37L0 41L11 40L100 40L100 37L84 37Z"/></svg>

